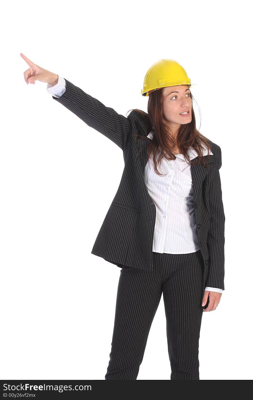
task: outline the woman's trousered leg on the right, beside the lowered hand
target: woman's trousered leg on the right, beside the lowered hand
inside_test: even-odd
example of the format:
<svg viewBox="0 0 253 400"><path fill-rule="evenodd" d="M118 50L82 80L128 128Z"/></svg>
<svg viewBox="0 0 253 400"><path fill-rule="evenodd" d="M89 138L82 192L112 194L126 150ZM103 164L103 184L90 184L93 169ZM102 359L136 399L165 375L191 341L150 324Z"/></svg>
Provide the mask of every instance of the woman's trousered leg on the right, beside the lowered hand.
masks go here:
<svg viewBox="0 0 253 400"><path fill-rule="evenodd" d="M203 272L194 253L184 265L163 285L171 380L199 380Z"/></svg>

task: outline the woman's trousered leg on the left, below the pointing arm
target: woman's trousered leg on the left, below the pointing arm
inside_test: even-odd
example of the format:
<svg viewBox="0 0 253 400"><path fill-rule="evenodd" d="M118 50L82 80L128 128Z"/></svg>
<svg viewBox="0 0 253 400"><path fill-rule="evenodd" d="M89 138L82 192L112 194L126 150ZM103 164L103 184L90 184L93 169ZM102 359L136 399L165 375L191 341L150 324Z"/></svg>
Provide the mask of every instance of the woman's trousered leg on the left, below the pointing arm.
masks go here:
<svg viewBox="0 0 253 400"><path fill-rule="evenodd" d="M106 380L136 380L161 294L157 273L131 267L120 271Z"/></svg>

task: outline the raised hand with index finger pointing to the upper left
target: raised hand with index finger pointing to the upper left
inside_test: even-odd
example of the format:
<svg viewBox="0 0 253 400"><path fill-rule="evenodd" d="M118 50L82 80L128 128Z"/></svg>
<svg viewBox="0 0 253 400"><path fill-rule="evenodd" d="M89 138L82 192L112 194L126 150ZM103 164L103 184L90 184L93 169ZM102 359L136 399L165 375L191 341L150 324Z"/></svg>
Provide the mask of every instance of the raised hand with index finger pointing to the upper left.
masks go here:
<svg viewBox="0 0 253 400"><path fill-rule="evenodd" d="M24 72L24 80L26 84L32 83L35 85L35 81L39 80L40 82L49 83L51 85L56 85L58 82L58 75L45 70L44 68L39 67L34 64L29 58L27 58L23 53L20 53L20 56L27 62L30 68Z"/></svg>

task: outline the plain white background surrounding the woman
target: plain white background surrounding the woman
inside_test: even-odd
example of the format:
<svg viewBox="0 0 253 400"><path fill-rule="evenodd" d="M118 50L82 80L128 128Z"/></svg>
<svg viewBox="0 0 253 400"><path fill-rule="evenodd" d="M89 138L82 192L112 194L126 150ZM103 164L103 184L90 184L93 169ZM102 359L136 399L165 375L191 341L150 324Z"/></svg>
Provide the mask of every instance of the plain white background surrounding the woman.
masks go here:
<svg viewBox="0 0 253 400"><path fill-rule="evenodd" d="M249 2L5 2L2 6L1 379L104 380L120 268L91 254L122 150L26 85L21 58L126 116L161 58L191 82L197 128L221 147L225 291L203 313L201 380L252 379L252 15ZM201 116L201 126L200 126ZM169 380L163 298L138 380Z"/></svg>

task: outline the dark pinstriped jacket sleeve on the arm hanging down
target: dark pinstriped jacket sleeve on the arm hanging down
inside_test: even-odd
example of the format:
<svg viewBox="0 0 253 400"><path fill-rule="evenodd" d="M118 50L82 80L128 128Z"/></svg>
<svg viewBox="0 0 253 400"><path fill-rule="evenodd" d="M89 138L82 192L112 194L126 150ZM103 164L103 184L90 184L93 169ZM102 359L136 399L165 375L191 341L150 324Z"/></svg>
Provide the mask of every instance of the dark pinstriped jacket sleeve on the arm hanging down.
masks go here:
<svg viewBox="0 0 253 400"><path fill-rule="evenodd" d="M224 287L224 245L225 245L225 214L222 201L221 178L221 148L218 146L218 163L215 173L209 183L210 225L207 235L207 248L209 251L209 268L205 286Z"/></svg>

